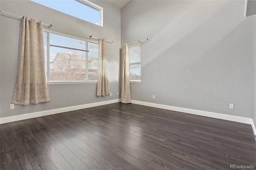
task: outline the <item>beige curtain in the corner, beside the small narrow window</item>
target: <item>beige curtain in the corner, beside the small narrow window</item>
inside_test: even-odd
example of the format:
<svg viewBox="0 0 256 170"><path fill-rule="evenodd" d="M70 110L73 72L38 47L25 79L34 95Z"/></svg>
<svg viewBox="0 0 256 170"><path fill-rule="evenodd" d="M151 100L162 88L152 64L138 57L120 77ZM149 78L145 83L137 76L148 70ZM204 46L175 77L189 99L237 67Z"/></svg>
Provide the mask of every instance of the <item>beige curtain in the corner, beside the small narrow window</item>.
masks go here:
<svg viewBox="0 0 256 170"><path fill-rule="evenodd" d="M122 79L122 91L121 102L132 103L131 88L130 88L130 61L129 61L129 45L123 45L123 79Z"/></svg>

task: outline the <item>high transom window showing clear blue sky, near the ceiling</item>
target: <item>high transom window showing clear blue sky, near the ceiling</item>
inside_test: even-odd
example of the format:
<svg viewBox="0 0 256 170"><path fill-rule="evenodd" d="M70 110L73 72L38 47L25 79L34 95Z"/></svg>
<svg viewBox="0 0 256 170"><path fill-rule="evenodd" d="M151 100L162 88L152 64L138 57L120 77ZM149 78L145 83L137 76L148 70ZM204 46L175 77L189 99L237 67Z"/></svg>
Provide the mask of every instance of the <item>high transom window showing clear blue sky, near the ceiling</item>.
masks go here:
<svg viewBox="0 0 256 170"><path fill-rule="evenodd" d="M88 0L32 0L65 14L103 26L103 8Z"/></svg>

